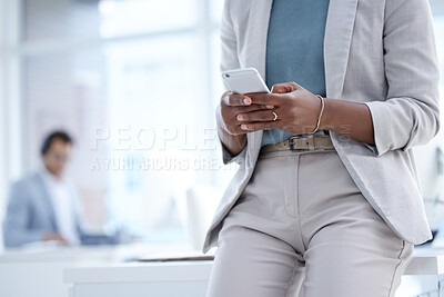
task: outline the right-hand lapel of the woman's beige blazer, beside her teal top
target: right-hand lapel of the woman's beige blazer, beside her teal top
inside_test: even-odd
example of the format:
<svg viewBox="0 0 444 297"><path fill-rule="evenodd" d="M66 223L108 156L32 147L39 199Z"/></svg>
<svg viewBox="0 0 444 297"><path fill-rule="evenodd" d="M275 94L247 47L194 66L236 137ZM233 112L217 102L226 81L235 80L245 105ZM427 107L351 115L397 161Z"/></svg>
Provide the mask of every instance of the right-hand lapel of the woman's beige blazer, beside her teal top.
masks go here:
<svg viewBox="0 0 444 297"><path fill-rule="evenodd" d="M330 0L324 37L326 96L341 99L357 0Z"/></svg>

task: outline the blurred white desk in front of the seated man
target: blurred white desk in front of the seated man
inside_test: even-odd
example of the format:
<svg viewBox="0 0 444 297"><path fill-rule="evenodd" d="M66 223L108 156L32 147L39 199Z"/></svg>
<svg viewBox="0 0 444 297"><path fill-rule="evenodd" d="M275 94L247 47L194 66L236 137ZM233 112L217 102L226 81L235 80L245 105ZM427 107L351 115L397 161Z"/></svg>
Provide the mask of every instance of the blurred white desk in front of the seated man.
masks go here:
<svg viewBox="0 0 444 297"><path fill-rule="evenodd" d="M63 281L63 271L67 268L107 266L129 258L158 254L167 248L133 244L6 251L0 255L0 296L68 297L69 285Z"/></svg>

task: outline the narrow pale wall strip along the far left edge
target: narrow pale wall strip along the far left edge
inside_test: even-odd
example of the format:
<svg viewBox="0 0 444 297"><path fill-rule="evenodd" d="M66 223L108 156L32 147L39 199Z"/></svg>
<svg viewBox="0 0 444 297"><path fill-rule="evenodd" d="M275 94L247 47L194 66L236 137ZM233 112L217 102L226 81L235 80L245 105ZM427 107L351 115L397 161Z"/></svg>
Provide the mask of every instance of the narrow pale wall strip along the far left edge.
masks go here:
<svg viewBox="0 0 444 297"><path fill-rule="evenodd" d="M12 179L22 174L22 101L19 59L21 1L0 0L0 224ZM0 231L0 251L3 249Z"/></svg>

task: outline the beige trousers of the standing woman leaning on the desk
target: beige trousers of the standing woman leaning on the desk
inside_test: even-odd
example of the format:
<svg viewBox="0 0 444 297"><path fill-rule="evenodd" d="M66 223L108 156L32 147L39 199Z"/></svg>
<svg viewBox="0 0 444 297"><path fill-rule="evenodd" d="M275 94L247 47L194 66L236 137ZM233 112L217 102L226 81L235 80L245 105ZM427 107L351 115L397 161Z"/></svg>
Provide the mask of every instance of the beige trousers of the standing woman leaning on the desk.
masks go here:
<svg viewBox="0 0 444 297"><path fill-rule="evenodd" d="M390 297L413 254L334 150L261 152L218 245L208 297Z"/></svg>

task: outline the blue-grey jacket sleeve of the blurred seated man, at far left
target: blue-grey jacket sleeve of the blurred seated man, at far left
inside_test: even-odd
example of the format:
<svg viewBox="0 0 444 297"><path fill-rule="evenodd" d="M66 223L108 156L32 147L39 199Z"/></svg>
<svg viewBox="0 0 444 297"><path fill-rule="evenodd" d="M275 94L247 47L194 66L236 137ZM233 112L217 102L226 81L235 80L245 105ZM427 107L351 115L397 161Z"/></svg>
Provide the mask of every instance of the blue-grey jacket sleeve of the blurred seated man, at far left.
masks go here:
<svg viewBox="0 0 444 297"><path fill-rule="evenodd" d="M7 215L3 221L3 241L7 248L40 241L43 236L42 231L27 228L30 196L27 190L28 187L22 184L17 182L12 186L8 200Z"/></svg>

